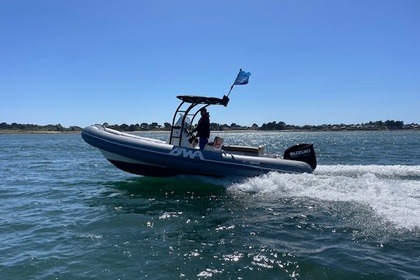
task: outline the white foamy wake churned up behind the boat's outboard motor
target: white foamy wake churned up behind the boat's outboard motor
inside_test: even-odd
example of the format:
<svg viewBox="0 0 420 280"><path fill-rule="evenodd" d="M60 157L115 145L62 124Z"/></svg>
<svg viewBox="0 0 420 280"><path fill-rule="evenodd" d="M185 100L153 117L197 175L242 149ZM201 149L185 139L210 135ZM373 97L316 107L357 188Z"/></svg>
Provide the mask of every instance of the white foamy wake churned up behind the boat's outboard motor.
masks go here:
<svg viewBox="0 0 420 280"><path fill-rule="evenodd" d="M367 206L395 228L420 229L420 167L325 165L314 174L269 173L230 186L265 199L301 197Z"/></svg>

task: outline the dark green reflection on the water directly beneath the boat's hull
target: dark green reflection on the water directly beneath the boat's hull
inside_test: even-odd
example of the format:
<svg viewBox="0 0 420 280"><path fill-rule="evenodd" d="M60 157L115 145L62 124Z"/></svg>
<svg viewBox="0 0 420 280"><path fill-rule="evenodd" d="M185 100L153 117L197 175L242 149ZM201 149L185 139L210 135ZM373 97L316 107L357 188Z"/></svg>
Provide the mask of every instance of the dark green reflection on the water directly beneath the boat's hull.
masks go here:
<svg viewBox="0 0 420 280"><path fill-rule="evenodd" d="M101 196L92 206L106 205L115 211L139 214L197 212L204 214L224 203L226 187L200 177L133 177L104 183ZM165 214L166 213L166 214ZM175 215L175 214L174 214Z"/></svg>

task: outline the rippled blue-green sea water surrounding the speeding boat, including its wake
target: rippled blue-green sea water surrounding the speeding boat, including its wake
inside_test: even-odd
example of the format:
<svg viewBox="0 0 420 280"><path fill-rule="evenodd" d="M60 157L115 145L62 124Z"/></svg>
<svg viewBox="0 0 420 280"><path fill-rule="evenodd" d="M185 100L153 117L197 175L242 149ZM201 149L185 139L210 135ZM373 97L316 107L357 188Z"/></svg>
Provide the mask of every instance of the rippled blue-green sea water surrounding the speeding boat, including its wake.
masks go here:
<svg viewBox="0 0 420 280"><path fill-rule="evenodd" d="M319 165L151 178L79 134L0 135L1 278L420 279L420 132L214 134Z"/></svg>

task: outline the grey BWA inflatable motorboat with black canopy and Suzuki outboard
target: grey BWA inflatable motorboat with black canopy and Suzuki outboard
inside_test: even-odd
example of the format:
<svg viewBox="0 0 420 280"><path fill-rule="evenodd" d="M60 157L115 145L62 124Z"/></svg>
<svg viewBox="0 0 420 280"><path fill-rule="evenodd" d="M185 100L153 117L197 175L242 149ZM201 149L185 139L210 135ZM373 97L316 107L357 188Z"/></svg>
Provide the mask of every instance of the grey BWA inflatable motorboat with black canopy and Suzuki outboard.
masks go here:
<svg viewBox="0 0 420 280"><path fill-rule="evenodd" d="M289 147L283 158L266 156L263 146L227 145L220 137L215 137L214 141L200 149L191 133L194 118L208 106L226 107L228 96L177 96L181 104L175 111L166 141L123 133L104 125L84 128L82 138L99 149L117 168L145 176L243 177L272 171L312 173L315 170L317 163L312 144Z"/></svg>

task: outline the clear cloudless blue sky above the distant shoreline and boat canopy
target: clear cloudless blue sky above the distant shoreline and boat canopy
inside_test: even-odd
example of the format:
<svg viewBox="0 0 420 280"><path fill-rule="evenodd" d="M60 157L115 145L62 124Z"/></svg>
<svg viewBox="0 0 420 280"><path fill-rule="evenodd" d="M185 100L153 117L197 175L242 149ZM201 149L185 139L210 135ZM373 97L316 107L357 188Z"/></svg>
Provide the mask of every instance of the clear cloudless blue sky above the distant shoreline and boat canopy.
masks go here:
<svg viewBox="0 0 420 280"><path fill-rule="evenodd" d="M0 122L420 123L418 0L0 0Z"/></svg>

